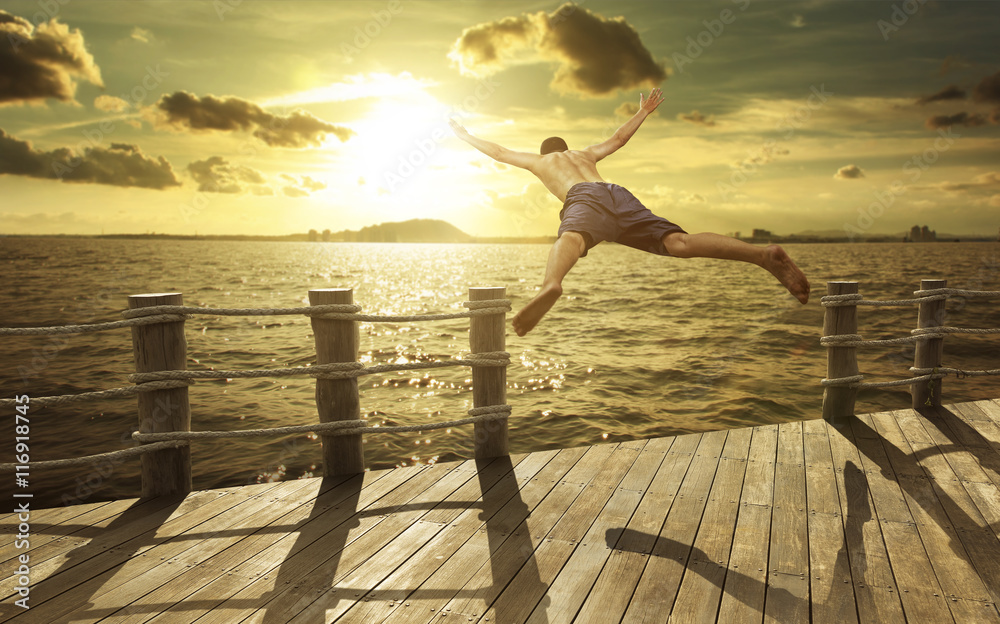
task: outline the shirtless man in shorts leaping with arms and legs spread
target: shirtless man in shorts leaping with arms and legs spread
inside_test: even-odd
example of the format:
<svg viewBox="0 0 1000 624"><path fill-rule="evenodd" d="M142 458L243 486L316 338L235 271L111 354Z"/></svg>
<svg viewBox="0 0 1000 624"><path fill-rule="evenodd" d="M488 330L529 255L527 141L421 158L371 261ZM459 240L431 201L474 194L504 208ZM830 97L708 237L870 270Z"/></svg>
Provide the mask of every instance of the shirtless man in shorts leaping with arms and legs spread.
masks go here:
<svg viewBox="0 0 1000 624"><path fill-rule="evenodd" d="M663 101L660 89L649 99L639 94L639 110L610 139L583 150L571 150L559 137L545 139L541 154L515 152L469 134L454 119L455 134L490 158L527 169L563 202L559 238L549 253L541 291L514 317L514 331L531 331L562 296L562 281L591 247L610 240L636 249L678 258L722 258L766 269L802 303L809 300L809 281L778 245L757 247L728 236L688 234L658 217L635 196L597 173L597 161L621 148Z"/></svg>

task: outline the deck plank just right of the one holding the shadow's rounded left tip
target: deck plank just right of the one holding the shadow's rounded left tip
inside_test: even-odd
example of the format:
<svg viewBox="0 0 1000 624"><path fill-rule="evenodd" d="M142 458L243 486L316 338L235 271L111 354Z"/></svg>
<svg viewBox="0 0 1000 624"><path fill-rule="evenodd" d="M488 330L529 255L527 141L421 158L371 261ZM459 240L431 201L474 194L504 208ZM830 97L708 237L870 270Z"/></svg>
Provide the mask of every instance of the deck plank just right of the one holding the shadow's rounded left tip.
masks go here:
<svg viewBox="0 0 1000 624"><path fill-rule="evenodd" d="M663 614L673 608L726 435L725 431L701 434L698 448L670 506L622 622L662 619Z"/></svg>

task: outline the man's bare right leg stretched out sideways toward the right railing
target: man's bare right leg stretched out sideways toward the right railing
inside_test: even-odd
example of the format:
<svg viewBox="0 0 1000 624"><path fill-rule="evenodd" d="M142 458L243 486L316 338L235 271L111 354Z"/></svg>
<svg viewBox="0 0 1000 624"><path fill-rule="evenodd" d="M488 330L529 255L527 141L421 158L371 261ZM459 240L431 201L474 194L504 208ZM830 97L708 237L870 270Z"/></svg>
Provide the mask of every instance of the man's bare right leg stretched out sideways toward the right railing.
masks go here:
<svg viewBox="0 0 1000 624"><path fill-rule="evenodd" d="M663 237L663 244L670 255L678 258L720 258L756 264L778 278L796 299L809 301L809 280L779 245L758 247L711 232L671 232Z"/></svg>

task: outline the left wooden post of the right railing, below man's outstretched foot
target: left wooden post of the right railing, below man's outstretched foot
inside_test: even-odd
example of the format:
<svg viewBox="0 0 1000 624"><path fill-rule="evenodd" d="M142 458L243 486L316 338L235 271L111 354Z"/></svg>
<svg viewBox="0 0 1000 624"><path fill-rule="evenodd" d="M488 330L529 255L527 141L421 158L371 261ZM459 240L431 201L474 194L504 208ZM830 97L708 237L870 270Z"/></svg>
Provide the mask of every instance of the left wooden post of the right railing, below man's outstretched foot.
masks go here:
<svg viewBox="0 0 1000 624"><path fill-rule="evenodd" d="M847 295L858 292L857 282L827 282L826 294ZM840 336L858 333L858 306L829 306L823 317L823 335ZM827 379L853 377L858 374L856 347L827 347ZM854 415L858 389L848 386L827 386L823 392L823 418L836 427L848 423Z"/></svg>

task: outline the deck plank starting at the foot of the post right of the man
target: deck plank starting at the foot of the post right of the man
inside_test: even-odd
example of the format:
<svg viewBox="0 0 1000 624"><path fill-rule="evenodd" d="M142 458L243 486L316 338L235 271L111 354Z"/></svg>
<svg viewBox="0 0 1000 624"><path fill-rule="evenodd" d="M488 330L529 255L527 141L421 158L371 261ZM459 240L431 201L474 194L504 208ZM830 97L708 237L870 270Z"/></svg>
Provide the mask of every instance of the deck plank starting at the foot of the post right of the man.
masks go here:
<svg viewBox="0 0 1000 624"><path fill-rule="evenodd" d="M828 432L858 619L873 624L905 621L854 433L850 427L831 427Z"/></svg>

